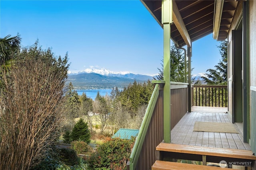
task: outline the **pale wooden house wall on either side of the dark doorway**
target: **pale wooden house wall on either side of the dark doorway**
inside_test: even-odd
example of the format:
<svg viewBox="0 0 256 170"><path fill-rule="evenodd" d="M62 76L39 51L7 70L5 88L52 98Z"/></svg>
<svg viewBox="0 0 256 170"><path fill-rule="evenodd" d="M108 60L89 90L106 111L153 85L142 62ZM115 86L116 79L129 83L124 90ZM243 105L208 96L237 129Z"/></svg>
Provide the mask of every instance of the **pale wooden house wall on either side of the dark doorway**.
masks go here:
<svg viewBox="0 0 256 170"><path fill-rule="evenodd" d="M247 59L248 61L248 78L249 84L247 86L248 89L252 87L254 90L247 90L247 95L250 98L250 114L248 115L248 133L250 132L250 145L253 152L256 151L256 1L250 0L247 1ZM237 29L238 23L242 18L242 8L243 2L239 2L238 8L236 10L235 16L232 20L230 30L228 32L228 92L229 92L229 103L228 103L228 110L230 114L232 114L232 30ZM242 62L242 60L241 60ZM250 123L252 122L252 123Z"/></svg>

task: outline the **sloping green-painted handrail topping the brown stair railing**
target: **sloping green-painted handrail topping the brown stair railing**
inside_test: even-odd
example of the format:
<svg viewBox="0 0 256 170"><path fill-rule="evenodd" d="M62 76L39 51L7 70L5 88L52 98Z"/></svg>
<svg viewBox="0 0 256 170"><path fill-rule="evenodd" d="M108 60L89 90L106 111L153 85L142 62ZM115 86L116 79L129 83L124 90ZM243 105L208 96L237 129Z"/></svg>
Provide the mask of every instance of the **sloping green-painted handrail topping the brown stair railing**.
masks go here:
<svg viewBox="0 0 256 170"><path fill-rule="evenodd" d="M158 95L159 95L159 85L156 84L154 91L152 93L152 97L150 98L148 107L146 109L146 113L142 120L138 136L136 137L136 141L134 143L132 153L130 155L130 160L129 160L130 170L134 170L134 168L136 167L136 164L138 162L138 158L140 156L140 151L142 149L142 145L145 140L145 136L146 136L146 133L148 130L150 119L151 119L153 111L154 111L154 107L155 107L157 99L158 99Z"/></svg>

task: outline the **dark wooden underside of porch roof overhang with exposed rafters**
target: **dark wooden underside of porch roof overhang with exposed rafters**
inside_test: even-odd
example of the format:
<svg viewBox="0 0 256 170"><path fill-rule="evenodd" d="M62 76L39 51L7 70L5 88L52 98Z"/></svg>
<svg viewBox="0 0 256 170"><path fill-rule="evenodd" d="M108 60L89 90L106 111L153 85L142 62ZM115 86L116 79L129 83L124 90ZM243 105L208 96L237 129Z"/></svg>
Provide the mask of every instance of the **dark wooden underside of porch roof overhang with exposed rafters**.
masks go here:
<svg viewBox="0 0 256 170"><path fill-rule="evenodd" d="M162 0L141 0L161 27ZM173 0L171 39L182 47L213 33L217 41L225 40L239 1Z"/></svg>

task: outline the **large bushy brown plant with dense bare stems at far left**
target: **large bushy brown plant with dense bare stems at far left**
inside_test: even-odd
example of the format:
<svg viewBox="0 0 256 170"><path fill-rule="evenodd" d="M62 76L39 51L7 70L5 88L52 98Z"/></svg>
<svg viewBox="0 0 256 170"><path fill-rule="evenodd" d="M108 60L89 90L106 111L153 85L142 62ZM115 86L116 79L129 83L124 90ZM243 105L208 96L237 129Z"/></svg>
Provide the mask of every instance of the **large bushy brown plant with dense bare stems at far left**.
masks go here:
<svg viewBox="0 0 256 170"><path fill-rule="evenodd" d="M29 169L59 136L66 74L50 58L30 57L1 70L0 169Z"/></svg>

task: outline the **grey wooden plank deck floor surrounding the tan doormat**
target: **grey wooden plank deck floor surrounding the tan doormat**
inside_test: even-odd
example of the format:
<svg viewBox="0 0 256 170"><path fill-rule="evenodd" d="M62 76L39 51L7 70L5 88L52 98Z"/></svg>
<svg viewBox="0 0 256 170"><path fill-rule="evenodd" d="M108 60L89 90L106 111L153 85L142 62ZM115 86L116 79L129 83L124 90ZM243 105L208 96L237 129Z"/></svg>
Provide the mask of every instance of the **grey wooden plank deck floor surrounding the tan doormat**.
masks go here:
<svg viewBox="0 0 256 170"><path fill-rule="evenodd" d="M208 108L206 108L208 109ZM210 108L213 109L213 108ZM215 109L219 113L200 108L192 109L191 113L186 113L171 131L171 143L182 145L194 145L216 148L230 148L251 150L248 143L243 143L241 133L216 133L193 131L196 121L205 122L226 122L230 123L228 113L225 109ZM236 125L234 125L236 127ZM237 127L236 127L237 128Z"/></svg>

